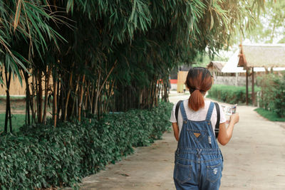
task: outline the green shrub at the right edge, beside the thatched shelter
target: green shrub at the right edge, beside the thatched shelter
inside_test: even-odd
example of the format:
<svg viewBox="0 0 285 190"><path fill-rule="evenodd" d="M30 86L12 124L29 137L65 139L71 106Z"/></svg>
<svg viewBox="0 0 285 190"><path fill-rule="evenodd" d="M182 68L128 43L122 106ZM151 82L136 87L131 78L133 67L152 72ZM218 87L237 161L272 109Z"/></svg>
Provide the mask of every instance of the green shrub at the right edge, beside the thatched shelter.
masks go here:
<svg viewBox="0 0 285 190"><path fill-rule="evenodd" d="M259 78L261 85L260 107L285 117L285 75L268 74Z"/></svg>

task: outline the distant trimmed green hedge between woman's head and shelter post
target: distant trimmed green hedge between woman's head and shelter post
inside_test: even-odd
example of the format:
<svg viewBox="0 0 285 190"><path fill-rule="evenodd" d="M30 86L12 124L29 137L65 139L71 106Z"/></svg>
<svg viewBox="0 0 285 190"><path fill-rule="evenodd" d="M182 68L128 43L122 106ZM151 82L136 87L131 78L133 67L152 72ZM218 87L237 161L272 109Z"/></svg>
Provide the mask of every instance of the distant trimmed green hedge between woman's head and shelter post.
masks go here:
<svg viewBox="0 0 285 190"><path fill-rule="evenodd" d="M254 88L255 94L260 91L259 87ZM249 103L252 102L252 88L249 88ZM246 102L246 87L232 85L213 85L208 91L207 97L214 98L229 104L242 104Z"/></svg>

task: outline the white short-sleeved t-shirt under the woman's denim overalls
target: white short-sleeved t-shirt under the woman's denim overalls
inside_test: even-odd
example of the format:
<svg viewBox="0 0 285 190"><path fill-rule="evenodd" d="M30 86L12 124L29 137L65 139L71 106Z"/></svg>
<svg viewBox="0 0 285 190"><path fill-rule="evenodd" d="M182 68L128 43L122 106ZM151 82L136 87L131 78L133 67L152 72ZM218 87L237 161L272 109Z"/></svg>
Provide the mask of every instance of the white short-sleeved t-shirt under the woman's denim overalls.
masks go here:
<svg viewBox="0 0 285 190"><path fill-rule="evenodd" d="M192 120L192 121L204 121L204 120L206 120L206 116L207 116L207 112L209 110L210 102L211 101L209 101L209 100L204 100L204 107L200 108L198 111L194 111L194 110L190 109L190 107L188 106L188 100L185 100L183 103L184 103L187 119ZM177 103L175 103L175 105L172 108L170 122L177 122L177 120L175 118L176 105L177 105ZM221 124L221 123L226 122L226 117L224 116L224 112L223 112L222 107L220 105L219 105L219 112L220 112L219 123ZM183 125L183 118L182 118L180 108L178 110L178 117L177 118L178 118L179 134L180 134L180 132L182 130L182 125ZM216 122L217 122L217 110L216 110L216 107L214 105L214 109L213 109L212 116L211 116L211 123L212 123L213 132L214 132L214 127L216 125Z"/></svg>

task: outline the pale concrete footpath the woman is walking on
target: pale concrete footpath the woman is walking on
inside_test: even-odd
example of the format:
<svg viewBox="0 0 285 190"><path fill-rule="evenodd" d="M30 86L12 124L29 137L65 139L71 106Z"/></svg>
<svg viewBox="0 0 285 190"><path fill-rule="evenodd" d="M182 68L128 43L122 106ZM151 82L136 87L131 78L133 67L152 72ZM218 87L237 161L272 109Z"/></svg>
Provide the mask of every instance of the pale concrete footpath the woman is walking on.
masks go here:
<svg viewBox="0 0 285 190"><path fill-rule="evenodd" d="M185 100L189 95L170 97ZM222 190L285 189L285 127L239 106L240 120L224 155ZM175 189L172 172L177 142L172 131L150 147L138 147L116 164L83 179L81 189Z"/></svg>

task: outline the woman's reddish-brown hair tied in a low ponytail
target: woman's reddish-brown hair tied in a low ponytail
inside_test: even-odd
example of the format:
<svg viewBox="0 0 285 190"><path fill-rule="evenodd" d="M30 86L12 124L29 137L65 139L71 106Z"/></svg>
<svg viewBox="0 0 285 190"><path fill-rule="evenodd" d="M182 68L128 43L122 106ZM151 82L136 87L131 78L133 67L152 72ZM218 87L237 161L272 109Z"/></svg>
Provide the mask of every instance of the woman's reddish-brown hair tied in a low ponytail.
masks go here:
<svg viewBox="0 0 285 190"><path fill-rule="evenodd" d="M185 85L190 90L188 106L192 110L204 107L203 95L212 87L212 75L207 68L191 68L188 72Z"/></svg>

